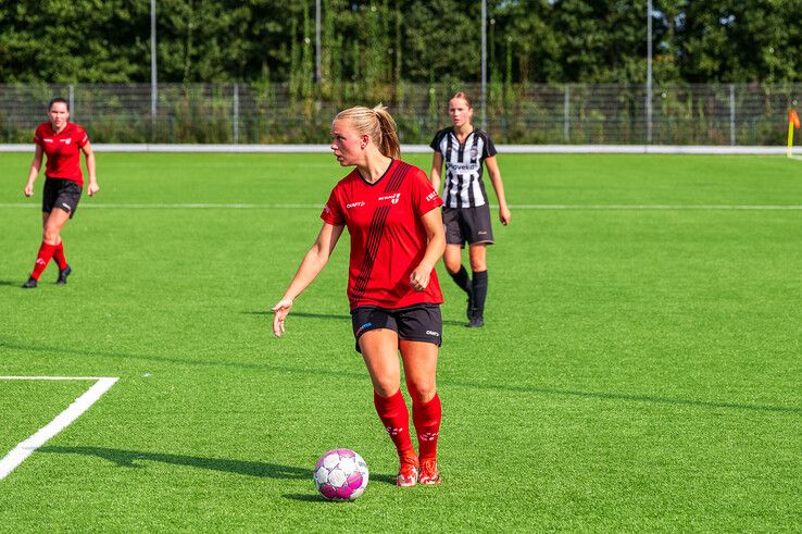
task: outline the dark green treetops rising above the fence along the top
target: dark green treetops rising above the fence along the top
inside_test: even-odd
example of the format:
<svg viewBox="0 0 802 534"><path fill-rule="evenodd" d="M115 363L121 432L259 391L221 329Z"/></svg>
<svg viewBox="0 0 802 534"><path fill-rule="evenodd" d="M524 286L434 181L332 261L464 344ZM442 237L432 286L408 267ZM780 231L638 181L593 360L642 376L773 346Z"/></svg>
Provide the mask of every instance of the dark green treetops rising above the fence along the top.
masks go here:
<svg viewBox="0 0 802 534"><path fill-rule="evenodd" d="M314 0L158 0L162 82L305 86ZM323 83L475 82L481 2L322 0ZM488 75L642 83L646 0L489 0ZM802 0L654 0L655 83L799 82ZM0 2L0 83L150 80L147 0Z"/></svg>

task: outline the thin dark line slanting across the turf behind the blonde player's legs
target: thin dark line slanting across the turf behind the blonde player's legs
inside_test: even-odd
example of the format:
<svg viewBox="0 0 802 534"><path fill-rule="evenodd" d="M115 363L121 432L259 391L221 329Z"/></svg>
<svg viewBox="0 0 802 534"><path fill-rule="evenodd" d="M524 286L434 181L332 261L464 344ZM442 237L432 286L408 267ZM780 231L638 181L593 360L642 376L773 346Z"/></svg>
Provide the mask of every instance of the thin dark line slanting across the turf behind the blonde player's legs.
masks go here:
<svg viewBox="0 0 802 534"><path fill-rule="evenodd" d="M43 347L36 345L17 345L14 343L8 343L0 339L0 348L21 350L27 352L40 352L43 355L73 355L73 356L86 356L90 358L104 357L120 360L141 360L141 361L153 361L158 363L177 363L180 365L199 365L209 368L234 368L234 369L253 369L258 371L273 372L279 374L295 374L295 375L309 375L309 376L322 376L322 377L350 377L364 382L366 380L366 372L349 372L349 371L331 371L327 369L315 369L315 368L297 368L289 365L272 365L268 363L249 363L238 361L225 361L225 360L193 360L190 358L171 358L166 356L149 356L149 355L130 355L125 352L111 352L104 350L80 350L71 349L66 347ZM479 382L466 382L466 381L453 381L448 378L440 378L438 383L448 387L464 387L474 390L488 390L488 392L507 392L507 393L519 393L529 395L544 395L544 396L556 396L556 397L579 397L586 399L600 399L600 400L616 400L626 402L644 402L653 405L668 405L668 406L687 406L692 408L701 409L729 409L729 410L744 410L744 411L763 411L763 412L775 412L775 413L802 413L800 407L786 407L786 406L772 406L772 405L747 405L740 402L722 402L722 401L710 401L710 400L696 400L696 399L682 399L673 397L660 397L651 395L632 395L632 394L621 394L614 392L592 392L581 389L567 389L567 388L555 388L555 387L541 387L541 386L528 386L517 384L498 384L498 383L479 383Z"/></svg>

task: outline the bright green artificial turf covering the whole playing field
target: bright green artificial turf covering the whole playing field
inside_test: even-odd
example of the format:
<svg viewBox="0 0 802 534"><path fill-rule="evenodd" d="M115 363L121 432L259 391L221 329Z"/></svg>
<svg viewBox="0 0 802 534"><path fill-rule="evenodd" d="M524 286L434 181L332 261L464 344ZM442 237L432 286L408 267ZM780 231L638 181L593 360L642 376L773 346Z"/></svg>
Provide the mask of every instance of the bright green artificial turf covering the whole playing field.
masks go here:
<svg viewBox="0 0 802 534"><path fill-rule="evenodd" d="M99 153L70 283L51 265L23 290L29 160L0 154L0 375L121 380L0 481L0 530L802 529L802 210L742 209L802 204L799 161L500 154L485 328L438 268L444 483L401 489L347 237L268 326L344 174L330 156ZM0 455L86 387L0 381ZM371 468L352 504L312 483L336 447Z"/></svg>

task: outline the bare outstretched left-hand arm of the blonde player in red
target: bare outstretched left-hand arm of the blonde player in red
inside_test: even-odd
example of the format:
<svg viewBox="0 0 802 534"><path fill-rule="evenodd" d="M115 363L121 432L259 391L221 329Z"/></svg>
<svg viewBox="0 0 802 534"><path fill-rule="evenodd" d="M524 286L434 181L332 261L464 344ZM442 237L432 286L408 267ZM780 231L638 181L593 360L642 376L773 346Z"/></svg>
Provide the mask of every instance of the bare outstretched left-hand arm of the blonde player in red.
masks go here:
<svg viewBox="0 0 802 534"><path fill-rule="evenodd" d="M273 334L276 337L280 337L284 334L284 321L287 319L296 297L303 293L319 272L323 271L323 268L326 266L328 258L337 245L337 240L342 235L343 228L344 226L333 226L328 223L323 223L315 244L312 245L306 256L303 257L292 282L290 282L287 290L284 291L284 297L273 307Z"/></svg>

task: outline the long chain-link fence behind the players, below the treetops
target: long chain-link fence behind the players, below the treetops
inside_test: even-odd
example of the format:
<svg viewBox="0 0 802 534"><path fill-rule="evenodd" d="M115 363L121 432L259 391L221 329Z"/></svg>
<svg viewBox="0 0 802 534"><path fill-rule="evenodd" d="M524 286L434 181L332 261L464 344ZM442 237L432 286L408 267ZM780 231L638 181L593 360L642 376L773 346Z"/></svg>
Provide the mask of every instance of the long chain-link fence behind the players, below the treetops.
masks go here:
<svg viewBox="0 0 802 534"><path fill-rule="evenodd" d="M30 141L47 120L47 102L60 96L96 142L328 142L337 111L381 101L403 142L428 144L450 124L447 102L455 90L479 95L478 84L311 91L287 84L163 84L154 114L147 84L0 85L0 139ZM800 97L802 84L655 86L649 125L643 85L489 84L487 120L477 107L474 123L499 144L640 145L651 131L655 145L782 145L788 109Z"/></svg>

